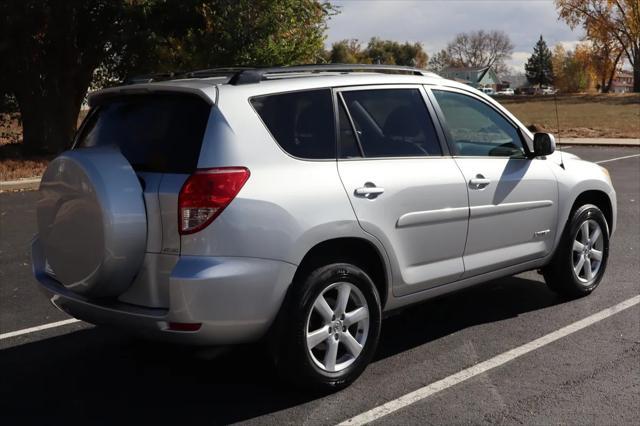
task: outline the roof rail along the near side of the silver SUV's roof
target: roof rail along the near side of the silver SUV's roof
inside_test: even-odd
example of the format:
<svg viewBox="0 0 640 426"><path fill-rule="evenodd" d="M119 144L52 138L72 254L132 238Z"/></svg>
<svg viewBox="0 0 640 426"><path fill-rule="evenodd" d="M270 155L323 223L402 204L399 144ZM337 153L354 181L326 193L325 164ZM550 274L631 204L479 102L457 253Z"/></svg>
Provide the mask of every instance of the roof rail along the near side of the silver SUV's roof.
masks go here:
<svg viewBox="0 0 640 426"><path fill-rule="evenodd" d="M314 64L295 65L274 68L249 68L235 73L229 80L229 84L234 86L241 84L259 83L267 79L268 75L282 75L295 73L317 74L322 72L353 72L368 71L380 73L403 73L411 75L427 76L432 73L419 68L406 67L401 65L374 65L374 64Z"/></svg>

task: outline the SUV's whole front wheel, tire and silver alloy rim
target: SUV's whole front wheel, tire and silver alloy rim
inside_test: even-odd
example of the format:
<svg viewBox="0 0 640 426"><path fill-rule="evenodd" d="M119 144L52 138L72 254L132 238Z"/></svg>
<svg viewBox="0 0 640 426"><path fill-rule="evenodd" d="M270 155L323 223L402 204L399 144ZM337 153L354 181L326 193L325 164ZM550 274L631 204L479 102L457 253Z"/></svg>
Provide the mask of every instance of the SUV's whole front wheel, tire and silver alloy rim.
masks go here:
<svg viewBox="0 0 640 426"><path fill-rule="evenodd" d="M580 297L600 284L608 257L607 221L597 206L586 204L573 213L553 260L542 271L553 291Z"/></svg>

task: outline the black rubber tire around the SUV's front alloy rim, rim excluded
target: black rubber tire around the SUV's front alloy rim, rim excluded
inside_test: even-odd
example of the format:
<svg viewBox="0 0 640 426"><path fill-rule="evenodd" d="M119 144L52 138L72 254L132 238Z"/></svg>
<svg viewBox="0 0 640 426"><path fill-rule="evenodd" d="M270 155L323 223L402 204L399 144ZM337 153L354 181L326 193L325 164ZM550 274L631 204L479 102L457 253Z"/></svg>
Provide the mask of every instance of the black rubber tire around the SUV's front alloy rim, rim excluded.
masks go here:
<svg viewBox="0 0 640 426"><path fill-rule="evenodd" d="M574 270L574 260L578 261L580 254L573 248L574 240L579 238L581 227L587 221L597 223L601 230L602 259L599 261L598 270L589 279L579 277ZM591 225L593 226L593 225ZM593 243L590 243L593 244ZM593 204L585 204L576 209L567 226L565 226L562 239L556 249L556 253L551 262L542 269L544 279L551 290L564 297L576 298L590 294L604 275L609 258L609 227L602 211ZM589 261L591 262L591 260ZM590 263L591 264L591 263ZM586 268L586 266L584 266ZM579 273L583 273L580 269Z"/></svg>

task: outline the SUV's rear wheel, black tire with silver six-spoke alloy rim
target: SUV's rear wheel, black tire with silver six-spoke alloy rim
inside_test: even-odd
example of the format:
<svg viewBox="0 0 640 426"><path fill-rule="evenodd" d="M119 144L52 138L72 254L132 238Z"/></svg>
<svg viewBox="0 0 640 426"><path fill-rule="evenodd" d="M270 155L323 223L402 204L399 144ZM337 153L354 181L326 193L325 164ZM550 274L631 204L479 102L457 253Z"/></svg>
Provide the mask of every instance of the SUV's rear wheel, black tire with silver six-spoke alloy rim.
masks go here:
<svg viewBox="0 0 640 426"><path fill-rule="evenodd" d="M278 370L309 389L348 386L371 361L380 335L373 281L355 265L334 263L311 272L292 291L276 343Z"/></svg>

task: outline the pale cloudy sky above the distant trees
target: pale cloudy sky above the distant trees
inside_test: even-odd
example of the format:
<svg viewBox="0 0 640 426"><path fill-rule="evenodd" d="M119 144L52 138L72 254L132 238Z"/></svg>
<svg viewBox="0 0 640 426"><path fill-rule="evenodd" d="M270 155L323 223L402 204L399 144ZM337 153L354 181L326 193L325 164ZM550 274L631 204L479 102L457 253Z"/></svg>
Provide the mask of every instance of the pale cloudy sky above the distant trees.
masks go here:
<svg viewBox="0 0 640 426"><path fill-rule="evenodd" d="M457 33L502 30L515 48L508 62L516 71L531 54L540 37L552 48L562 43L573 48L581 29L571 30L552 0L342 0L340 14L329 21L327 46L345 38L367 42L373 36L423 43L429 54L445 47Z"/></svg>

